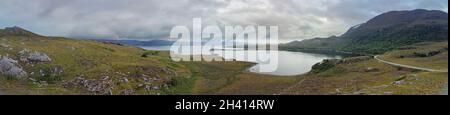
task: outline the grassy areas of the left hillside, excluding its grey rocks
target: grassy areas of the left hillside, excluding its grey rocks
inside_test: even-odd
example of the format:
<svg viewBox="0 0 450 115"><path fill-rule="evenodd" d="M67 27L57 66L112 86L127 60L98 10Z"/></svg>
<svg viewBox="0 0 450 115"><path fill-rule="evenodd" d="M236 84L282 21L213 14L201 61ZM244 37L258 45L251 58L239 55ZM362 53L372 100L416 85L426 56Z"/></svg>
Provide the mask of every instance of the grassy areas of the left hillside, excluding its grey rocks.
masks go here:
<svg viewBox="0 0 450 115"><path fill-rule="evenodd" d="M150 56L141 57L145 52L135 47L126 47L113 44L105 44L87 40L72 40L66 38L47 37L1 37L0 43L9 45L8 48L1 47L0 55L9 55L13 59L18 59L17 52L24 48L44 52L52 58L51 63L43 64L23 64L22 67L28 72L39 73L39 70L46 70L51 67L60 66L64 72L60 75L61 80L46 87L32 84L29 80L6 79L0 77L0 87L9 94L86 94L79 89L66 89L61 87L64 81L70 81L77 76L84 76L88 79L100 79L102 76L110 76L113 81L118 82L120 77L116 72L129 75L129 83L120 84L113 89L114 94L119 94L121 90L131 88L140 82L140 79L133 78L137 74L148 74L150 76L159 75L162 79L167 78L163 73L146 73L137 71L137 68L162 68L175 69L180 76L188 74L188 70L183 65L173 64L167 57ZM30 78L38 79L38 75L30 74ZM166 79L162 82L168 82ZM139 94L155 94L159 91L138 91Z"/></svg>

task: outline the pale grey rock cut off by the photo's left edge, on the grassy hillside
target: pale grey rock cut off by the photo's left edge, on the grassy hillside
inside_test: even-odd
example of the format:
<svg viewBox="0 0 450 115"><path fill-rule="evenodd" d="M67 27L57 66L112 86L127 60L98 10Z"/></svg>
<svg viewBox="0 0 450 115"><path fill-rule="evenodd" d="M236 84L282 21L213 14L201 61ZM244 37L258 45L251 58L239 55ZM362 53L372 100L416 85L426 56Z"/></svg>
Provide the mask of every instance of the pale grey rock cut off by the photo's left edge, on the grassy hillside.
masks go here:
<svg viewBox="0 0 450 115"><path fill-rule="evenodd" d="M16 60L6 56L0 56L0 73L6 76L23 78L27 72L20 67Z"/></svg>

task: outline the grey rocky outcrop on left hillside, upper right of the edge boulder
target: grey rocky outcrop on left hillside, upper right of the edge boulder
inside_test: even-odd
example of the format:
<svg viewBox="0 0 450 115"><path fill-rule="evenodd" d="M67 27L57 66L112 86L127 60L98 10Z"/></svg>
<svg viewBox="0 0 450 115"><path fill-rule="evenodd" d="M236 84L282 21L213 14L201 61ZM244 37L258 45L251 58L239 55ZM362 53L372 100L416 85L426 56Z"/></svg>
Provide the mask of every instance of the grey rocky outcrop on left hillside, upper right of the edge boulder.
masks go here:
<svg viewBox="0 0 450 115"><path fill-rule="evenodd" d="M20 61L24 63L40 63L40 62L51 62L52 59L45 53L37 51L29 51L24 49L19 52Z"/></svg>

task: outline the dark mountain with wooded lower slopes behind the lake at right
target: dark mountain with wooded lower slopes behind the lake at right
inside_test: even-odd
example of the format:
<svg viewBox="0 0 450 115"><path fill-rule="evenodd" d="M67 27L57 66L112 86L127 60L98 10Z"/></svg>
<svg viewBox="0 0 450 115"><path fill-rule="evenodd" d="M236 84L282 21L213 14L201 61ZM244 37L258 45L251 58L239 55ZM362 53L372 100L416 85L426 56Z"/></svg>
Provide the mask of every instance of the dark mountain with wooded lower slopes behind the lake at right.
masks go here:
<svg viewBox="0 0 450 115"><path fill-rule="evenodd" d="M391 11L350 28L341 36L280 45L282 50L332 50L380 54L419 42L448 41L448 13L437 10Z"/></svg>

